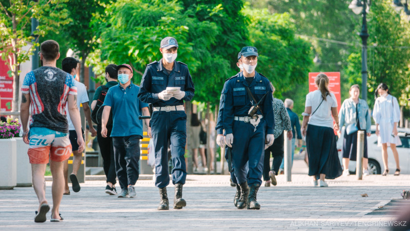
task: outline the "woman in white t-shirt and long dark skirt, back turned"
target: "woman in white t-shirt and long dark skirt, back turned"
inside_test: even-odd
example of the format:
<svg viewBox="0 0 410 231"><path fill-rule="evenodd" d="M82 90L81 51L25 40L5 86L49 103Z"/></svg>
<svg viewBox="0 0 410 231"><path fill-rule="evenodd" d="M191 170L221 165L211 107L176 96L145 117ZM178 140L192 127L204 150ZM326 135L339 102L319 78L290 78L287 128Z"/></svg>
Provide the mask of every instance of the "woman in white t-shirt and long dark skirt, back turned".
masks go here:
<svg viewBox="0 0 410 231"><path fill-rule="evenodd" d="M327 75L318 74L315 83L318 90L306 95L301 132L306 137L309 176L313 176L313 185L327 187L324 179L335 179L342 175L333 131L339 130L339 117L335 95L328 88Z"/></svg>

